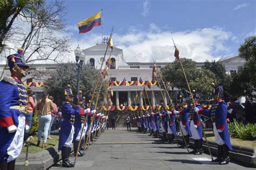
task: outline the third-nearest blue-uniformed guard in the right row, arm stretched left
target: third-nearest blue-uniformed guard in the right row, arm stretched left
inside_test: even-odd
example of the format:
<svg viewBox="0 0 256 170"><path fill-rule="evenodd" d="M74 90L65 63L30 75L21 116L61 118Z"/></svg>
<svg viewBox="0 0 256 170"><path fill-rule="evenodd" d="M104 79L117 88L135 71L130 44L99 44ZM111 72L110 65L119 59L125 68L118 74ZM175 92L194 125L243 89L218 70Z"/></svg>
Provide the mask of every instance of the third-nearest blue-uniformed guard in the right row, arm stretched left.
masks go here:
<svg viewBox="0 0 256 170"><path fill-rule="evenodd" d="M180 121L180 127L181 131L183 132L184 138L186 140L187 147L190 146L190 137L191 132L190 132L190 123L188 120L189 114L190 114L190 108L185 107L185 100L181 100L180 107L182 107L181 111L174 111L175 114L180 114L181 121ZM185 143L185 141L184 141ZM181 145L182 148L186 148L185 144Z"/></svg>

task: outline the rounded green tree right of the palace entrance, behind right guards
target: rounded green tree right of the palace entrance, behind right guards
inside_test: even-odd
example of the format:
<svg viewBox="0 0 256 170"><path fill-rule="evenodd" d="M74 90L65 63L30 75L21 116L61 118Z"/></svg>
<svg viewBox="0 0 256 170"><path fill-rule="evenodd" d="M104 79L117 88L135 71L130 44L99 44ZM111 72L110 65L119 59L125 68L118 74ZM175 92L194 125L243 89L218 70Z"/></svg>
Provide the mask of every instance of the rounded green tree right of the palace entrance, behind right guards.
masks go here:
<svg viewBox="0 0 256 170"><path fill-rule="evenodd" d="M215 74L210 70L197 69L196 62L192 59L181 58L191 90L196 90L200 94L210 96L212 94L211 83L215 82ZM188 90L186 80L180 63L175 60L161 69L165 81L171 82L171 85L181 90Z"/></svg>

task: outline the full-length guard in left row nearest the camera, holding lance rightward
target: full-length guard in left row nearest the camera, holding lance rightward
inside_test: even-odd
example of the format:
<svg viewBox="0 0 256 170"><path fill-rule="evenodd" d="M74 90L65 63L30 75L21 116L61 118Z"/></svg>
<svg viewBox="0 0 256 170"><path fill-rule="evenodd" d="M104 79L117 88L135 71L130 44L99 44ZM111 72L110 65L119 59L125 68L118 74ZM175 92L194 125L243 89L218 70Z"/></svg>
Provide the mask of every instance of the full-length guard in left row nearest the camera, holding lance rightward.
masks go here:
<svg viewBox="0 0 256 170"><path fill-rule="evenodd" d="M84 110L74 110L72 108L71 101L73 100L73 94L70 86L64 90L64 96L65 103L62 105L63 122L60 127L58 150L62 151L62 166L73 167L74 164L69 160L70 146L75 132L73 124L75 122L75 117L79 117L80 114L83 114Z"/></svg>

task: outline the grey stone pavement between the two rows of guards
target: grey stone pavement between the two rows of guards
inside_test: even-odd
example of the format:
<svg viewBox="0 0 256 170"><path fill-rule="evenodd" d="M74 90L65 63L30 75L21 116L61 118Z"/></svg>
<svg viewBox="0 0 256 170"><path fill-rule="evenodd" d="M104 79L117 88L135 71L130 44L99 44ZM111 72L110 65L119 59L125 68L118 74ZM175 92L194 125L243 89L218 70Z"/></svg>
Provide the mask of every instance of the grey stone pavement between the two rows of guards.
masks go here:
<svg viewBox="0 0 256 170"><path fill-rule="evenodd" d="M192 155L177 144L158 142L147 134L127 132L125 128L106 130L89 146L84 157L78 157L76 167L69 169L255 169L235 162L213 164L210 155ZM74 159L70 156L71 161ZM59 162L50 169L60 168Z"/></svg>

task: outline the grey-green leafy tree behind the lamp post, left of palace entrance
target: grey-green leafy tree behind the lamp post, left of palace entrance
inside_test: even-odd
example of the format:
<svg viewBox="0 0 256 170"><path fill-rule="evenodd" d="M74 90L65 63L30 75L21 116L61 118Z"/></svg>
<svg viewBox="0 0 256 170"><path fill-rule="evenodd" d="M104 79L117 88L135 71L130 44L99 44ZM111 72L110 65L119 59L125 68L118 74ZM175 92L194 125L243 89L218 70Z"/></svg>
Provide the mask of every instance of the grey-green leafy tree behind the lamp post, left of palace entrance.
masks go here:
<svg viewBox="0 0 256 170"><path fill-rule="evenodd" d="M83 96L86 101L89 101L92 96L92 92L95 87L96 77L98 70L91 65L85 65L81 71L81 81L80 81L80 90L83 92ZM102 76L99 80L101 80ZM77 66L75 63L65 63L59 64L57 70L51 74L51 79L46 81L46 89L49 91L49 94L55 98L55 103L61 105L64 101L63 90L67 85L71 85L73 94L77 94ZM97 90L99 89L100 81L97 85ZM104 82L102 90L100 91L100 100L98 106L102 104L103 96L106 90L106 83ZM96 91L95 97L93 100L97 99Z"/></svg>

